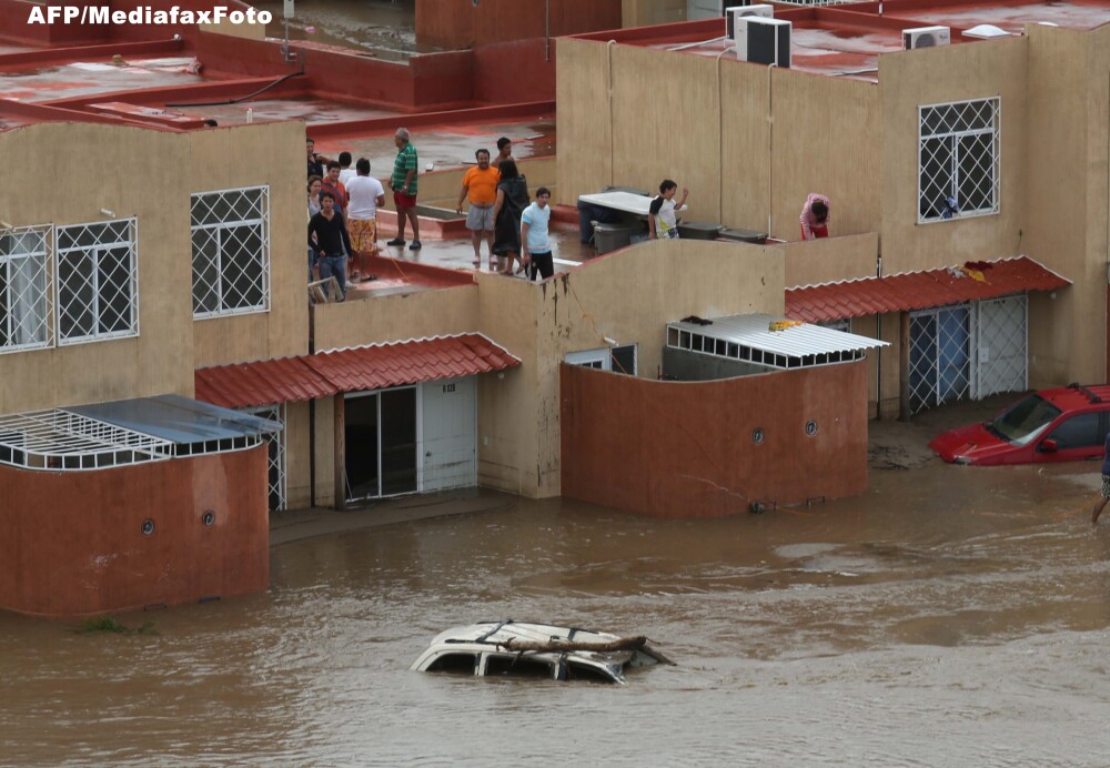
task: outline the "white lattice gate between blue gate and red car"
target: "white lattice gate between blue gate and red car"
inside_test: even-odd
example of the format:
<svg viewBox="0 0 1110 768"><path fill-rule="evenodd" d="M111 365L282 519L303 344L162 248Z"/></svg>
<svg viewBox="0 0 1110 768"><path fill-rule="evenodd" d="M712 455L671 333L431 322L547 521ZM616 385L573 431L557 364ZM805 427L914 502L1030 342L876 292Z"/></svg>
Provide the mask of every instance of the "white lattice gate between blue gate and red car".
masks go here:
<svg viewBox="0 0 1110 768"><path fill-rule="evenodd" d="M975 397L1028 390L1028 296L989 299L978 305Z"/></svg>

